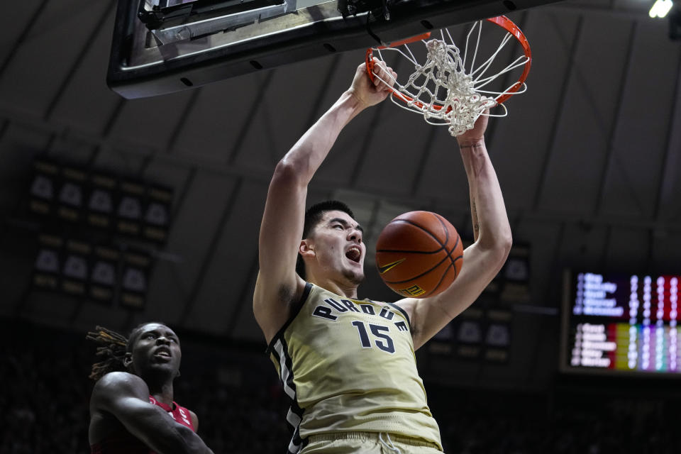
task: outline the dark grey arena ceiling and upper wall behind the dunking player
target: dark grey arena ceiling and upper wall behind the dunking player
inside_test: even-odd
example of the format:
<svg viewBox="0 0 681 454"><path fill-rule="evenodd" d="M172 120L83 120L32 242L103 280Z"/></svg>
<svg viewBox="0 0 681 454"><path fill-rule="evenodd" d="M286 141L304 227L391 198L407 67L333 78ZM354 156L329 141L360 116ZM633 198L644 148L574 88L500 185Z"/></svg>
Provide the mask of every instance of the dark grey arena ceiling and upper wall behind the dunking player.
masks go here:
<svg viewBox="0 0 681 454"><path fill-rule="evenodd" d="M528 92L490 123L487 143L514 241L531 253L532 298L516 308L514 349L535 354L517 370L557 342L566 268L679 274L681 42L648 17L651 3L567 0L510 15L533 67ZM162 319L264 343L251 295L267 184L348 87L363 51L126 100L105 83L115 9L112 0L27 0L3 15L0 315L79 330ZM32 289L40 223L25 207L38 156L174 189L169 239L148 248L143 311ZM370 247L411 209L437 211L470 235L455 141L389 103L343 131L310 188L309 201L329 197L355 208ZM369 280L360 297L391 297L375 272Z"/></svg>

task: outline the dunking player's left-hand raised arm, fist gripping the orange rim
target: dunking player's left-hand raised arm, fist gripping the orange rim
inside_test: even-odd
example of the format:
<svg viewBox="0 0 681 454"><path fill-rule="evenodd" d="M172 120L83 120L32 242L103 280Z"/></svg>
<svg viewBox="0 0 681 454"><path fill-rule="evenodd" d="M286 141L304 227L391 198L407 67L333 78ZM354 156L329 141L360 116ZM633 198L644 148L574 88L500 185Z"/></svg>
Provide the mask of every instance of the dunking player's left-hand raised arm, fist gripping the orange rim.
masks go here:
<svg viewBox="0 0 681 454"><path fill-rule="evenodd" d="M382 67L375 72L388 80ZM260 272L253 295L253 311L267 342L289 316L289 304L297 301L304 281L295 265L303 232L307 185L338 134L368 106L384 100L389 88L377 78L372 82L365 64L355 72L353 83L284 155L275 168L267 192L259 238Z"/></svg>

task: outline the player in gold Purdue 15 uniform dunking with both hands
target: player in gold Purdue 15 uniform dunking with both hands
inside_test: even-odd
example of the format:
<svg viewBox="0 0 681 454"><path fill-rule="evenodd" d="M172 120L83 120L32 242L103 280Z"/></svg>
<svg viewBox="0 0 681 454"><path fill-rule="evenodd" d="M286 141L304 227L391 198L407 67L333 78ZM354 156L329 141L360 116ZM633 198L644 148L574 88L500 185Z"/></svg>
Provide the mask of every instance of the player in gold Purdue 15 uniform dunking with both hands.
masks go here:
<svg viewBox="0 0 681 454"><path fill-rule="evenodd" d="M389 80L386 71L392 69L375 70ZM307 185L343 127L388 93L360 65L350 89L279 161L267 193L253 310L292 399L291 453L441 452L414 350L477 299L511 248L481 116L457 138L475 232L460 275L435 297L394 304L357 299L362 228L340 202L305 212Z"/></svg>

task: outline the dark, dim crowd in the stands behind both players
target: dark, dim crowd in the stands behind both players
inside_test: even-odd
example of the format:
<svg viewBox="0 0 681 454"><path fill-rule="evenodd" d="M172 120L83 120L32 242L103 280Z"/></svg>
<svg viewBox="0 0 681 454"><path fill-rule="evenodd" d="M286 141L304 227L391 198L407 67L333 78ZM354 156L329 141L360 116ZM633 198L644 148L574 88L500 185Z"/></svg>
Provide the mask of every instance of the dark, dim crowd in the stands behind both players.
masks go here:
<svg viewBox="0 0 681 454"><path fill-rule="evenodd" d="M89 367L84 333L4 323L0 347L0 454L89 453ZM201 348L182 338L179 404L199 416L216 454L282 453L287 397L261 349ZM192 359L192 355L194 358ZM569 390L518 395L426 384L450 454L665 454L681 452L678 397L607 397ZM526 404L524 404L526 402Z"/></svg>

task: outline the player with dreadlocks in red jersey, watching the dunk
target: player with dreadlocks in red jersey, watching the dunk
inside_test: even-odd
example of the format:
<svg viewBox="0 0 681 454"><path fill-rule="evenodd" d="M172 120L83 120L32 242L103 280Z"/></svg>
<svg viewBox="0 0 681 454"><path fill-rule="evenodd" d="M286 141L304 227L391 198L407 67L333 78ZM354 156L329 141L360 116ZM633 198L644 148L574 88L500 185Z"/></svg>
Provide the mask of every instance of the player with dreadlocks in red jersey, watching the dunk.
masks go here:
<svg viewBox="0 0 681 454"><path fill-rule="evenodd" d="M96 327L90 378L89 441L92 454L212 454L196 435L198 420L172 401L179 376L179 338L162 323L143 323L128 338Z"/></svg>

